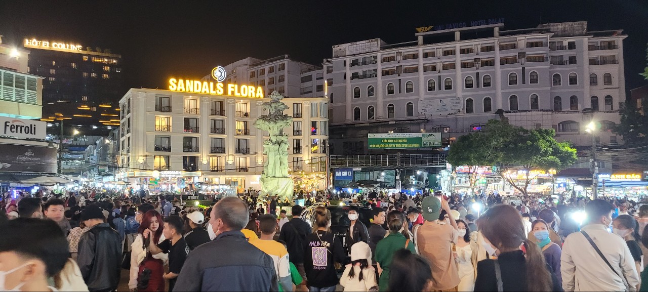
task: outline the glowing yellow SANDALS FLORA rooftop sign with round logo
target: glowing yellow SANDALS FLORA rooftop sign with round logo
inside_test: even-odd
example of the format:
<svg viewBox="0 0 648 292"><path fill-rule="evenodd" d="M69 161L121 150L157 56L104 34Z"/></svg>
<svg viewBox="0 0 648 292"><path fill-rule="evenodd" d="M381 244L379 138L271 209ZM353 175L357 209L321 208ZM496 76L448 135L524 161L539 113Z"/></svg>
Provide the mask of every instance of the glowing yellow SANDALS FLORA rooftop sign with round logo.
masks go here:
<svg viewBox="0 0 648 292"><path fill-rule="evenodd" d="M218 82L170 78L168 90L183 93L200 93L206 95L229 95L240 97L264 98L263 87L253 85L223 84L226 72L223 67L216 67L211 75Z"/></svg>

